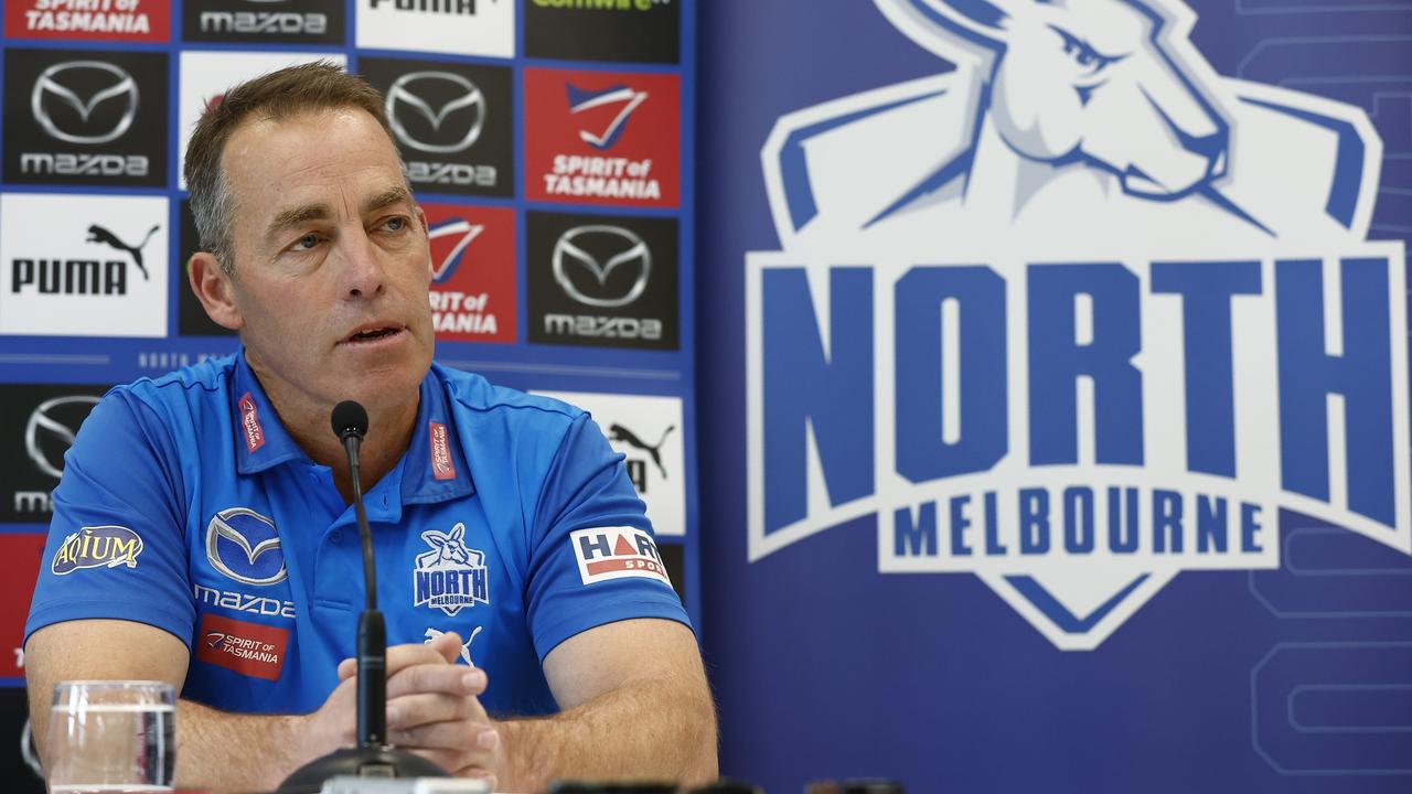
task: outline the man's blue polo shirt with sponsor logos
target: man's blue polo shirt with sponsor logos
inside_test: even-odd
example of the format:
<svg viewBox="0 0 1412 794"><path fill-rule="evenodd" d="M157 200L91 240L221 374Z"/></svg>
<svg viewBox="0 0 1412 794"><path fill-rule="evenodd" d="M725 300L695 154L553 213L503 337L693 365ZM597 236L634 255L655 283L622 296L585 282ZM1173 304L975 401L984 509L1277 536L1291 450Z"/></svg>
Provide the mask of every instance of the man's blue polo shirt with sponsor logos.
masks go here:
<svg viewBox="0 0 1412 794"><path fill-rule="evenodd" d="M364 496L388 644L456 632L490 677L486 709L538 715L556 711L539 663L565 639L688 623L621 458L578 408L432 365L411 446ZM359 544L329 468L285 432L240 350L93 408L54 492L25 639L147 623L191 648L182 697L309 712L354 656Z"/></svg>

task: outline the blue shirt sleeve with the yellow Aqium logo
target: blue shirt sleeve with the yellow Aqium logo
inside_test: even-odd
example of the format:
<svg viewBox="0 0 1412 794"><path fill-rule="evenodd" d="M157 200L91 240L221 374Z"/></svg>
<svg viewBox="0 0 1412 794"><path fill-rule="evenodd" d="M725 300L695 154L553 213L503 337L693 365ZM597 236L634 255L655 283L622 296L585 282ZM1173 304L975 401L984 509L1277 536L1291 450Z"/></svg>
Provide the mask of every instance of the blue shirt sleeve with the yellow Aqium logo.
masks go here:
<svg viewBox="0 0 1412 794"><path fill-rule="evenodd" d="M24 637L65 620L119 619L191 644L182 479L171 434L124 389L95 405L64 458Z"/></svg>

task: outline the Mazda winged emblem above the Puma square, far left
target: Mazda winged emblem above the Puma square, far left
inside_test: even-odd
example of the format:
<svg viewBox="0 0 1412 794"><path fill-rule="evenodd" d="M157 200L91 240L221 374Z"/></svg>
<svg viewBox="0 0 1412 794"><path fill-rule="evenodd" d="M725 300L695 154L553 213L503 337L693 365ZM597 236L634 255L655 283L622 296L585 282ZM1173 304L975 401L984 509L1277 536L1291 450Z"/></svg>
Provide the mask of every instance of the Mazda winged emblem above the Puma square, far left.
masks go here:
<svg viewBox="0 0 1412 794"><path fill-rule="evenodd" d="M123 110L112 120L114 113L107 109L114 102L121 102ZM40 73L30 107L44 131L64 143L107 143L137 117L137 82L107 61L65 61ZM96 113L99 109L104 112Z"/></svg>

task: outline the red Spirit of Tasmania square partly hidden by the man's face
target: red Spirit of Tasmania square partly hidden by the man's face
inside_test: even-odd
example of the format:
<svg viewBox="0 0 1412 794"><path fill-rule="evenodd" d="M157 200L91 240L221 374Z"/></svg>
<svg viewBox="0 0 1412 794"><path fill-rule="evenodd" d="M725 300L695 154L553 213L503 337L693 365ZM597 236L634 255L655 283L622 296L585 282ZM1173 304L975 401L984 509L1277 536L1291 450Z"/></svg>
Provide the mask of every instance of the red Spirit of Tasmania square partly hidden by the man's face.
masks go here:
<svg viewBox="0 0 1412 794"><path fill-rule="evenodd" d="M515 213L424 203L432 250L432 328L443 342L515 340Z"/></svg>

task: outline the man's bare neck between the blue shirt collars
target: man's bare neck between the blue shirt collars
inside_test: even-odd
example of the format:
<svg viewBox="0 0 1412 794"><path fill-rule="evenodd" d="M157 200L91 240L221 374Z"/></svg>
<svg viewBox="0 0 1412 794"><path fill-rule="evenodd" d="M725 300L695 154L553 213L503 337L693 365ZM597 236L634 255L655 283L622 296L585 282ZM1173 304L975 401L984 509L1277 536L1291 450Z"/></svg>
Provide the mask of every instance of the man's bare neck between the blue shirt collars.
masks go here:
<svg viewBox="0 0 1412 794"><path fill-rule="evenodd" d="M326 405L311 403L305 394L297 393L284 380L264 370L249 353L246 362L260 379L260 386L275 414L280 415L285 431L309 459L333 470L333 485L339 489L343 502L352 503L353 480L347 454L343 451L343 442L329 428L333 403ZM397 461L411 446L419 403L421 393L414 390L402 403L367 407L369 431L359 446L359 482L363 486L363 493L367 493L387 472L391 472Z"/></svg>

